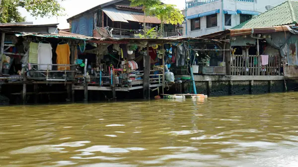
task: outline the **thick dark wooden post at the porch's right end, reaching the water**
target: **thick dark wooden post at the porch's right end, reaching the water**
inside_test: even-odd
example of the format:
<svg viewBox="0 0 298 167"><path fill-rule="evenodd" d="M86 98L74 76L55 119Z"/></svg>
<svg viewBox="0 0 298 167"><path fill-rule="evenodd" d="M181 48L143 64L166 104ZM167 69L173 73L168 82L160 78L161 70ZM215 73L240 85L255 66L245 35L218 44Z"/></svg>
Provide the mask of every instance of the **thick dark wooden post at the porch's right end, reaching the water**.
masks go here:
<svg viewBox="0 0 298 167"><path fill-rule="evenodd" d="M150 56L149 46L147 46L147 55L144 56L144 76L143 76L143 96L144 99L150 99Z"/></svg>

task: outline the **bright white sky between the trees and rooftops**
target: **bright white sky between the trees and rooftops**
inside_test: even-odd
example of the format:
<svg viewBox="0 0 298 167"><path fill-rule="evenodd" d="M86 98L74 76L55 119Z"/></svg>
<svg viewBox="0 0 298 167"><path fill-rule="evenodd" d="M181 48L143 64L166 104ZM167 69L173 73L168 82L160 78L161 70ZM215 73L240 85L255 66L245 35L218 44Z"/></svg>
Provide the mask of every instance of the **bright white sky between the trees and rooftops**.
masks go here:
<svg viewBox="0 0 298 167"><path fill-rule="evenodd" d="M33 24L52 24L59 23L58 28L66 29L69 28L69 23L67 23L66 19L70 18L78 13L81 13L85 10L88 10L94 6L99 4L108 2L111 0L64 0L61 5L66 9L66 16L60 17L45 17L45 18L35 18L30 16L30 14L23 8L19 8L22 16L26 17L27 22L33 22ZM171 3L177 5L179 9L183 9L185 7L185 0L162 0L164 3Z"/></svg>

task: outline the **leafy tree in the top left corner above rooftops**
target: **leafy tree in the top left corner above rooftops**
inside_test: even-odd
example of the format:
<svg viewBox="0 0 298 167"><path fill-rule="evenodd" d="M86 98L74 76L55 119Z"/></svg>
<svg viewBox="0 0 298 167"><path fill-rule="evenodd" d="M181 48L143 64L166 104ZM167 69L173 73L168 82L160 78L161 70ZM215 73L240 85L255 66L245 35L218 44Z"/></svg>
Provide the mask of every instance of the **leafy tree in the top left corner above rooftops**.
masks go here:
<svg viewBox="0 0 298 167"><path fill-rule="evenodd" d="M59 16L65 10L58 0L0 0L0 22L25 21L17 7L25 8L35 17Z"/></svg>

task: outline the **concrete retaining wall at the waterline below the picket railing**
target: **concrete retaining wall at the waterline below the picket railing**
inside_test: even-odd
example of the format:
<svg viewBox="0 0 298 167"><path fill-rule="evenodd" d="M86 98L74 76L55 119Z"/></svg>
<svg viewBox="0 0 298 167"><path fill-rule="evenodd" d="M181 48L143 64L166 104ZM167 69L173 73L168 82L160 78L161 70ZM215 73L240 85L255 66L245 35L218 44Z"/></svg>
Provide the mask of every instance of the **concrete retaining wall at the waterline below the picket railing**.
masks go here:
<svg viewBox="0 0 298 167"><path fill-rule="evenodd" d="M208 96L264 94L285 91L283 76L196 75L195 83L197 93ZM183 93L193 93L190 81L184 82L182 87Z"/></svg>

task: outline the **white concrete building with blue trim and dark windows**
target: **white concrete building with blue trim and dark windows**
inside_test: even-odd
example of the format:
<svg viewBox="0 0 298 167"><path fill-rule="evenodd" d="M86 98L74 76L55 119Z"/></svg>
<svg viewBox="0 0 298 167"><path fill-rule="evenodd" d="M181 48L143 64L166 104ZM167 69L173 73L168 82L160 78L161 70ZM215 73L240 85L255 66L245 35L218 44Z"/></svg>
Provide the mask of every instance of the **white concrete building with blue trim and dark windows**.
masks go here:
<svg viewBox="0 0 298 167"><path fill-rule="evenodd" d="M286 0L186 1L184 32L191 37L198 37L230 29L284 1Z"/></svg>

